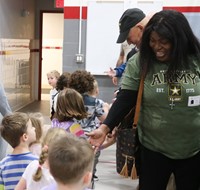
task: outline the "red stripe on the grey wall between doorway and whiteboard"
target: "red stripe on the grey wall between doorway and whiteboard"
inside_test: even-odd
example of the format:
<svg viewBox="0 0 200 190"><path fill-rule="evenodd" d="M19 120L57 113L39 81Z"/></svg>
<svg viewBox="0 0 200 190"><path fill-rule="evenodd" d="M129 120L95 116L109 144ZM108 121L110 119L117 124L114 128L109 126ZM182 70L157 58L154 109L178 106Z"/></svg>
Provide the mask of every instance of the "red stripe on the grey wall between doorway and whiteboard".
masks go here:
<svg viewBox="0 0 200 190"><path fill-rule="evenodd" d="M64 7L64 19L79 19L80 7ZM87 19L87 7L82 7L82 19Z"/></svg>

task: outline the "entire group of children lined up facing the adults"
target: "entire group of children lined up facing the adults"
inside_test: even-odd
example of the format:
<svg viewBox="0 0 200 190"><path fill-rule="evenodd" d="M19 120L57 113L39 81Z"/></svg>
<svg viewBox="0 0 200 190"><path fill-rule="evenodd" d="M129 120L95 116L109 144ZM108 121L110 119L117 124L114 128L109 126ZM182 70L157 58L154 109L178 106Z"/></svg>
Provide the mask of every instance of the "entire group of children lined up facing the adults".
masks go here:
<svg viewBox="0 0 200 190"><path fill-rule="evenodd" d="M98 84L87 71L47 74L51 127L43 134L41 113L14 112L1 123L1 136L13 151L0 161L0 190L93 188L100 156L87 141L109 104L97 98ZM108 137L102 148L114 141Z"/></svg>

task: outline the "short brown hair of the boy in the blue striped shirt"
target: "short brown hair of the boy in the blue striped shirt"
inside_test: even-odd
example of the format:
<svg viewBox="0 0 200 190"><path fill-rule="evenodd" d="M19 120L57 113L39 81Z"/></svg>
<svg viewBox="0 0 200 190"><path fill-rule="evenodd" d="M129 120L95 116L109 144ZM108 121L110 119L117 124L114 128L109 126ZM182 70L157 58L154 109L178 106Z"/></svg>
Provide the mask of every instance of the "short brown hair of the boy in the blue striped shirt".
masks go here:
<svg viewBox="0 0 200 190"><path fill-rule="evenodd" d="M27 123L30 117L26 113L15 112L3 118L1 123L1 136L12 146L20 144L20 138L27 132Z"/></svg>

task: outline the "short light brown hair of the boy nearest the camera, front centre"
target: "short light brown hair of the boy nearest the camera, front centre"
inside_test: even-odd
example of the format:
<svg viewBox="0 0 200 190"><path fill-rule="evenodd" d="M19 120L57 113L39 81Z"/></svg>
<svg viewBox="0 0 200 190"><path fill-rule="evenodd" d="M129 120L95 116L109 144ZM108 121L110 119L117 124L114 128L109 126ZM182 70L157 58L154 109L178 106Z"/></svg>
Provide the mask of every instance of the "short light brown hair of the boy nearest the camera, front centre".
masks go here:
<svg viewBox="0 0 200 190"><path fill-rule="evenodd" d="M49 168L58 183L78 183L86 172L92 172L94 151L89 142L67 133L49 148Z"/></svg>

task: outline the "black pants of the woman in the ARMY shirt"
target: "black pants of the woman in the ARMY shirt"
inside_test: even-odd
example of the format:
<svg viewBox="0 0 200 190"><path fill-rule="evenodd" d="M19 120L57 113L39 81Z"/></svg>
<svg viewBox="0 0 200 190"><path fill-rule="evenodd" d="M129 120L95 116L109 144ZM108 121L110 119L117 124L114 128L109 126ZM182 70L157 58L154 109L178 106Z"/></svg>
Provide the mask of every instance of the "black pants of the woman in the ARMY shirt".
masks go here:
<svg viewBox="0 0 200 190"><path fill-rule="evenodd" d="M188 159L174 160L141 146L140 190L166 190L171 173L176 190L199 190L200 152Z"/></svg>

